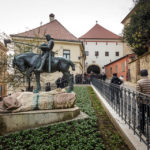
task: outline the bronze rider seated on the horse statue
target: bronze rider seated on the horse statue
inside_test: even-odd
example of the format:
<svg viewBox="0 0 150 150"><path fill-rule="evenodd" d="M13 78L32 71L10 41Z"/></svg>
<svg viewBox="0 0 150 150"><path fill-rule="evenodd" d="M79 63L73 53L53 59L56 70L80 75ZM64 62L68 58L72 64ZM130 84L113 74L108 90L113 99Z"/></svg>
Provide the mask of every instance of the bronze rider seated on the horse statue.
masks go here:
<svg viewBox="0 0 150 150"><path fill-rule="evenodd" d="M49 63L48 63L48 72L51 72L51 59L52 59L52 49L54 47L54 40L51 38L49 34L46 35L46 40L48 41L48 44L44 43L41 44L40 49L42 50L43 54L41 57L41 64L39 68L36 69L36 71L41 72L43 69L43 66L45 64L46 59L48 58Z"/></svg>

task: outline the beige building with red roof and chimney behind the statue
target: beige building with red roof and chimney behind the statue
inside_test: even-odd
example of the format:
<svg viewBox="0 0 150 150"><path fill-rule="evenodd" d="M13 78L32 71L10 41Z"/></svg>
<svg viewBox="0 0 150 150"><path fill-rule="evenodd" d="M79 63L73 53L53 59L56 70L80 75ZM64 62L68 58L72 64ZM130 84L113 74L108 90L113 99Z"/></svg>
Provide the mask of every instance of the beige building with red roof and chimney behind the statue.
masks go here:
<svg viewBox="0 0 150 150"><path fill-rule="evenodd" d="M55 57L65 57L70 59L75 64L75 71L70 68L71 74L82 74L85 68L85 53L83 43L71 34L58 20L55 19L54 14L49 15L50 22L41 25L33 30L29 30L23 33L11 35L13 41L40 45L46 42L45 35L50 34L54 39ZM35 53L40 53L40 49L26 46L22 48L22 44L15 44L15 54L24 53L32 49ZM18 48L20 47L20 48ZM58 77L61 77L62 73L56 72L51 74L43 74L42 78L44 83L55 82Z"/></svg>

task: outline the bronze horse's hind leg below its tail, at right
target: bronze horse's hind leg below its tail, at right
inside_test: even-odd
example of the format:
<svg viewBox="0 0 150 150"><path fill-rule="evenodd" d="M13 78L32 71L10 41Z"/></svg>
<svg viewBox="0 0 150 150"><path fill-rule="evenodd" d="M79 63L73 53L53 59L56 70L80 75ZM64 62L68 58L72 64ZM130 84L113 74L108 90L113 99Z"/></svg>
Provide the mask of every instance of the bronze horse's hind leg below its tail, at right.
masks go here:
<svg viewBox="0 0 150 150"><path fill-rule="evenodd" d="M70 93L70 92L73 90L72 75L70 74L69 71L63 72L63 75L64 75L64 78L67 79L68 85L69 85L69 88L68 88L68 90L67 90L67 93Z"/></svg>

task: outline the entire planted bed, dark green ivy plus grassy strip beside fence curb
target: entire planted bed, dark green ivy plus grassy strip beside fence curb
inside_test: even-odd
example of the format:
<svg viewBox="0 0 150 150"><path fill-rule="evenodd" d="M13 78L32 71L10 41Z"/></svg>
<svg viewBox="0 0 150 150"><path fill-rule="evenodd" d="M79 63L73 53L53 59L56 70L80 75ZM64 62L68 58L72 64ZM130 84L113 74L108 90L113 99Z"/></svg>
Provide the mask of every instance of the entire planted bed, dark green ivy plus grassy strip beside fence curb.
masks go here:
<svg viewBox="0 0 150 150"><path fill-rule="evenodd" d="M74 91L76 105L88 119L0 136L0 150L128 150L93 89L75 87Z"/></svg>

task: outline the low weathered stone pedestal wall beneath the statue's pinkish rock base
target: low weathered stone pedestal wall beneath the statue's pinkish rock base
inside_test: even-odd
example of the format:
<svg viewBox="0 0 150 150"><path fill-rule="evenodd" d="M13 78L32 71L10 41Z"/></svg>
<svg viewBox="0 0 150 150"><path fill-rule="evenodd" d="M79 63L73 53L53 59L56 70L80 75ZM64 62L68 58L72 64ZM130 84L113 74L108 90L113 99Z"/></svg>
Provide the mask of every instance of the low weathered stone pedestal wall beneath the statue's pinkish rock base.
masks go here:
<svg viewBox="0 0 150 150"><path fill-rule="evenodd" d="M68 109L36 110L19 113L0 114L0 135L23 129L40 127L55 122L70 120L80 114L80 109L75 106Z"/></svg>

